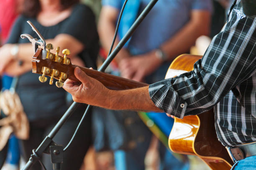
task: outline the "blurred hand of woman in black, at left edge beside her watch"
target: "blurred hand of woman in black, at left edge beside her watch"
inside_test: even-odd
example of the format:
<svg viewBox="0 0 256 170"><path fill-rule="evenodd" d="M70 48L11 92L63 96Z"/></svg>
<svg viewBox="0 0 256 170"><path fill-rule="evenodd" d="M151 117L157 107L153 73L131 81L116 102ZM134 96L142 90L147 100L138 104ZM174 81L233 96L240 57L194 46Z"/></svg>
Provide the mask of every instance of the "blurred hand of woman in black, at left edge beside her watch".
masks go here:
<svg viewBox="0 0 256 170"><path fill-rule="evenodd" d="M10 61L13 60L13 56L10 53L11 48L13 48L13 46L13 44L5 44L0 48L0 75L3 74L3 71L6 68L6 66L10 63Z"/></svg>

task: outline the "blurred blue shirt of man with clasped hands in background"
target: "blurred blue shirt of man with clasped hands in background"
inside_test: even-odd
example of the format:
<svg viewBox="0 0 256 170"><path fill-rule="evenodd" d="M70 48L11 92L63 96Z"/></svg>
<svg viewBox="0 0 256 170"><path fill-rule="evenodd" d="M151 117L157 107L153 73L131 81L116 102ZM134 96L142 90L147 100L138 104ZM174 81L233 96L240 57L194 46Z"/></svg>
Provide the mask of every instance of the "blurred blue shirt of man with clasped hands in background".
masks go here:
<svg viewBox="0 0 256 170"><path fill-rule="evenodd" d="M120 10L123 2L124 0L102 0L102 6L111 6ZM138 12L141 13L149 2L149 0L140 0ZM159 0L134 32L128 45L130 53L138 55L159 48L189 21L191 10L212 11L212 1Z"/></svg>

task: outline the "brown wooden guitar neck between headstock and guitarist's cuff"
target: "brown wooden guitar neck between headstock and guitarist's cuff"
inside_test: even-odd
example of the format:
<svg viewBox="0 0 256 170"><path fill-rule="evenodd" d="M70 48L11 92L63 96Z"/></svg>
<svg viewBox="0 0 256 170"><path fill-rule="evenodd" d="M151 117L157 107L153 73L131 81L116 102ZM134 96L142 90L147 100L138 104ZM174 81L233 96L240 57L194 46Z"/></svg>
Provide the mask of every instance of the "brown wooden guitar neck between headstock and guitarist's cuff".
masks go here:
<svg viewBox="0 0 256 170"><path fill-rule="evenodd" d="M81 66L72 65L72 70L68 75L69 79L73 81L79 81L74 76L74 68L79 67L82 71L84 71L88 76L100 81L104 86L111 90L125 90L125 89L135 89L139 87L148 86L146 83L141 83L138 81L133 81L130 79L125 79L119 76L114 76L108 73L88 69Z"/></svg>

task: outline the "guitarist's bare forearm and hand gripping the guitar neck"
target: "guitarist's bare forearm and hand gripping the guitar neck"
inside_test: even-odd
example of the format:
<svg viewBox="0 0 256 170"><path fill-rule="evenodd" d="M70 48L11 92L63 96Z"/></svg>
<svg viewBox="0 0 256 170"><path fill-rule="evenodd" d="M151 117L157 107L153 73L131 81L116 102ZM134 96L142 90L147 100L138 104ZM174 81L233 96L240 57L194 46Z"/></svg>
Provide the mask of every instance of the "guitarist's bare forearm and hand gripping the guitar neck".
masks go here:
<svg viewBox="0 0 256 170"><path fill-rule="evenodd" d="M106 109L163 112L151 101L148 86L116 91L107 89L100 81L88 76L78 67L75 68L74 75L82 84L67 79L63 88L72 94L76 102Z"/></svg>

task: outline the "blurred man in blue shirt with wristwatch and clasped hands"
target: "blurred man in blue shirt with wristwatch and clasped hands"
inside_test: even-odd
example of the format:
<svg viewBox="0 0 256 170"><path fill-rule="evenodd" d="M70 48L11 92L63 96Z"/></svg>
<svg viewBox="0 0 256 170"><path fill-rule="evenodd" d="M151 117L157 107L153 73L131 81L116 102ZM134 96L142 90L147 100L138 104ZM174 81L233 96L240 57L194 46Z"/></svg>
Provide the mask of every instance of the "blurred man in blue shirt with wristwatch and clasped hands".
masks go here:
<svg viewBox="0 0 256 170"><path fill-rule="evenodd" d="M102 0L98 31L105 51L110 49L115 24L123 2L124 0ZM132 1L129 7L129 1L127 2L125 8L129 10L123 13L118 30L119 37L115 46L147 4L148 0L138 0ZM120 75L125 78L148 84L164 79L166 71L175 57L187 53L199 36L209 35L211 10L211 0L158 1L128 43L125 44L125 48L116 56L115 62L118 69L115 70L118 70ZM131 21L129 18L133 20ZM124 20L123 23L122 20ZM124 114L122 115L124 116ZM147 143L144 147L147 148L148 145ZM132 152L138 154L131 157ZM137 147L129 152L123 151L123 153L126 157L122 163L118 163L120 166L116 167L118 170L143 169L141 163L143 163L146 150ZM183 165L173 156L170 158L170 153L167 150L161 152L160 157L161 160L164 160L164 157L169 157L169 162L164 162L161 169L188 169L187 165ZM118 160L116 154L115 159ZM129 162L133 162L132 168ZM171 162L175 162L175 164ZM136 163L137 168L134 168Z"/></svg>

